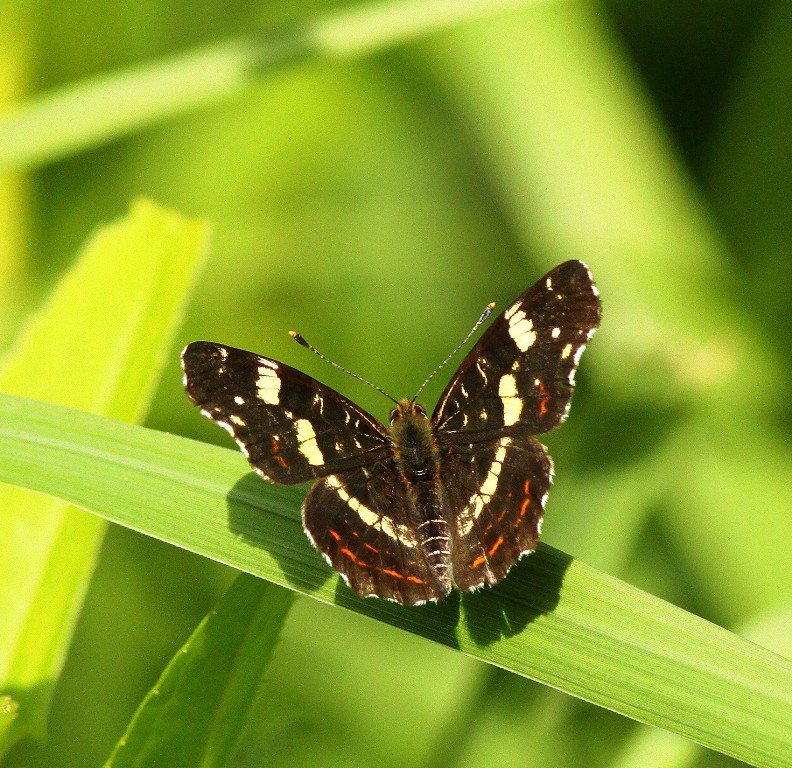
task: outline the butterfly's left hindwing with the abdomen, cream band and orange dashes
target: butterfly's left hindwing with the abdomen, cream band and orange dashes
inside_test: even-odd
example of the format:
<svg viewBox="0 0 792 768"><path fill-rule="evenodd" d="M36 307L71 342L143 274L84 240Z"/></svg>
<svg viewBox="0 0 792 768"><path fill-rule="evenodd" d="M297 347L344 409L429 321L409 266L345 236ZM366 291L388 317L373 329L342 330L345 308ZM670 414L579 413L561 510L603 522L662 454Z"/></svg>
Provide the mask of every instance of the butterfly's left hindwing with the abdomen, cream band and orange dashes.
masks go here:
<svg viewBox="0 0 792 768"><path fill-rule="evenodd" d="M303 525L355 593L416 605L451 590L444 504L436 483L408 492L395 467L380 462L318 480Z"/></svg>

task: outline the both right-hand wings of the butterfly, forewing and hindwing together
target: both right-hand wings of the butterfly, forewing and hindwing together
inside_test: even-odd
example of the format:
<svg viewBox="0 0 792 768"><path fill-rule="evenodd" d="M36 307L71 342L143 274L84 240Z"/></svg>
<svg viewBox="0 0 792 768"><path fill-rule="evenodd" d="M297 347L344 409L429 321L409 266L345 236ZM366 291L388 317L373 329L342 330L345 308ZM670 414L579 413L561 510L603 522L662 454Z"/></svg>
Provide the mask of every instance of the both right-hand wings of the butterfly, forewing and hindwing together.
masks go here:
<svg viewBox="0 0 792 768"><path fill-rule="evenodd" d="M566 417L599 318L588 268L561 264L492 323L441 396L432 419L460 589L496 584L536 548L553 465L532 435Z"/></svg>

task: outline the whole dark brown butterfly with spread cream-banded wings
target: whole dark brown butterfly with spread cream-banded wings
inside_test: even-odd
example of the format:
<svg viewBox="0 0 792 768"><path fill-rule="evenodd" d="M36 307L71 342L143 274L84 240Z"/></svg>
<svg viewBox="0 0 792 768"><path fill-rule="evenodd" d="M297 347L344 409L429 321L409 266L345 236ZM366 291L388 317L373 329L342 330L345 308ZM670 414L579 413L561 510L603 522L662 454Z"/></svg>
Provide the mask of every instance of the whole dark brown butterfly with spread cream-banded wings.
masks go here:
<svg viewBox="0 0 792 768"><path fill-rule="evenodd" d="M295 368L208 341L184 349L184 386L263 478L315 481L305 531L355 593L417 605L497 584L536 549L553 464L534 435L566 418L600 312L588 267L560 264L491 323L431 418L403 399L388 426Z"/></svg>

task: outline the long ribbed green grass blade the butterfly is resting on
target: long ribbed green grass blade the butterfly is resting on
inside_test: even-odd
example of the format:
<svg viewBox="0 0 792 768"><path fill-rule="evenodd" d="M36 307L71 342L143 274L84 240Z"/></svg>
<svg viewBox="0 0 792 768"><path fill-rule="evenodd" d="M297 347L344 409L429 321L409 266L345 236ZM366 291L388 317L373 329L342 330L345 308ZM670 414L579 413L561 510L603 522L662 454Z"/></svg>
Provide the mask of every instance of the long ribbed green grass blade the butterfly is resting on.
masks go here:
<svg viewBox="0 0 792 768"><path fill-rule="evenodd" d="M757 766L792 766L792 663L550 547L498 588L408 609L353 596L293 489L235 451L0 398L0 481L334 602Z"/></svg>

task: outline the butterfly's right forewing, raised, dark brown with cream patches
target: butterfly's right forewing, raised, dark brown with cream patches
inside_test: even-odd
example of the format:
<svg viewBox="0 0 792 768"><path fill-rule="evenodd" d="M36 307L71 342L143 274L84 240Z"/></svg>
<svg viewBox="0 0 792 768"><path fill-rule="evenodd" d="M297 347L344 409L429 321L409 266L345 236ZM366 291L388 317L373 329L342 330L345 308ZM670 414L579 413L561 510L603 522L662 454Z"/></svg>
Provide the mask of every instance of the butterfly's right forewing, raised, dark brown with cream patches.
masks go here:
<svg viewBox="0 0 792 768"><path fill-rule="evenodd" d="M599 292L585 264L567 261L548 272L462 361L432 416L438 441L537 435L558 426L599 320Z"/></svg>

